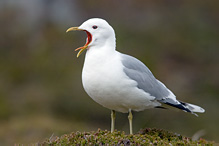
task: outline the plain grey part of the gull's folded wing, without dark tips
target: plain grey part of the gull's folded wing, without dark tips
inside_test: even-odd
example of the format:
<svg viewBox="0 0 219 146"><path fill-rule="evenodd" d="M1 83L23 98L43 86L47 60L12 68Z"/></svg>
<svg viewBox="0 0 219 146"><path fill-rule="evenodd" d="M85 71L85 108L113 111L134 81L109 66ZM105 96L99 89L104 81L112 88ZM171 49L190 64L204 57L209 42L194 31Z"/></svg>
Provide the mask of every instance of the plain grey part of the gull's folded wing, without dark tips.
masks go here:
<svg viewBox="0 0 219 146"><path fill-rule="evenodd" d="M170 91L138 59L122 54L122 64L125 74L137 82L137 87L154 96L156 100L163 100L170 95Z"/></svg>

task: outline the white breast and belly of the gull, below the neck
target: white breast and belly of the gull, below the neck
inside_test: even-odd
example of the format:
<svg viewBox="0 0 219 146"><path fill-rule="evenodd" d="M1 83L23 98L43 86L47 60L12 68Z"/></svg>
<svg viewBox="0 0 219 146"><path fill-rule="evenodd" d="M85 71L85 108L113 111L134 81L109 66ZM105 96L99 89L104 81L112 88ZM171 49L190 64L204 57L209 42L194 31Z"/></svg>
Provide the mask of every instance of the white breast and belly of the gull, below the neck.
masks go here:
<svg viewBox="0 0 219 146"><path fill-rule="evenodd" d="M94 101L109 109L140 111L152 105L150 95L125 75L119 54L99 60L86 55L82 83Z"/></svg>

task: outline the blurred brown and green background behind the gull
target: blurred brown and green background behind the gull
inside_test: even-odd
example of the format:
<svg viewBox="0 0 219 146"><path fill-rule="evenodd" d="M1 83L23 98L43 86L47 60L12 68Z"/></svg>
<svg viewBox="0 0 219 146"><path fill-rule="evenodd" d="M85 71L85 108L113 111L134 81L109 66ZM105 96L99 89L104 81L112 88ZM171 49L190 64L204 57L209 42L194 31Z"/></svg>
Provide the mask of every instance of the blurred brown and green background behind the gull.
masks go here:
<svg viewBox="0 0 219 146"><path fill-rule="evenodd" d="M205 108L134 113L134 131L156 127L219 141L219 1L0 1L0 145L110 130L110 110L83 90L86 34L67 28L92 17L115 29L117 50L143 61L178 99ZM116 128L128 133L127 114Z"/></svg>

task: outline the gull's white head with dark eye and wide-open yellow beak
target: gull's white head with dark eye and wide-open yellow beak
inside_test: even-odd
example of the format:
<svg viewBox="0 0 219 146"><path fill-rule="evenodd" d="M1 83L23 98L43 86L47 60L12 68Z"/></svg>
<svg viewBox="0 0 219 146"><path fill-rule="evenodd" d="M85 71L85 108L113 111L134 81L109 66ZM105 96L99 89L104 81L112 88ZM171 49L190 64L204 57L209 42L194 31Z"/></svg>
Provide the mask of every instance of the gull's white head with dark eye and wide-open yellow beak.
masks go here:
<svg viewBox="0 0 219 146"><path fill-rule="evenodd" d="M86 44L75 50L80 50L77 57L79 57L84 50L91 47L101 48L107 44L115 48L115 32L113 28L103 19L89 19L82 23L79 27L71 27L66 32L73 30L85 31L87 34Z"/></svg>

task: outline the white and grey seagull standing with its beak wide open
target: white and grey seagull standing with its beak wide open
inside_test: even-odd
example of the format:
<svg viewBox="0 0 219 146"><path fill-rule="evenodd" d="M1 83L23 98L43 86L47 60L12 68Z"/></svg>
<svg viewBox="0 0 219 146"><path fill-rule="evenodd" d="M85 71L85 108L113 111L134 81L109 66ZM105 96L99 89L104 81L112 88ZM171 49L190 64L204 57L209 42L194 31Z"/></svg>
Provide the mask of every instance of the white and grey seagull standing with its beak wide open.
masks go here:
<svg viewBox="0 0 219 146"><path fill-rule="evenodd" d="M128 113L130 134L132 111L173 106L192 114L204 113L197 105L182 102L138 59L116 50L115 31L101 18L91 18L69 31L84 31L86 44L77 48L77 57L86 51L82 83L87 94L111 110L111 132L115 130L116 111Z"/></svg>

